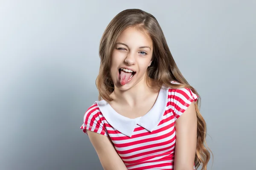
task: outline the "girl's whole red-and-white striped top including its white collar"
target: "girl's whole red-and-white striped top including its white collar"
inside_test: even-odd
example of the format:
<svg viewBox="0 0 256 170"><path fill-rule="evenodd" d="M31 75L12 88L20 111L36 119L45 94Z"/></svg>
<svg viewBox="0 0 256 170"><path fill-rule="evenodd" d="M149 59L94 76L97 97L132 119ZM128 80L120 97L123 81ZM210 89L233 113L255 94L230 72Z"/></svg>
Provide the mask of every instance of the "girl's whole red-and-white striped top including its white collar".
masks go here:
<svg viewBox="0 0 256 170"><path fill-rule="evenodd" d="M86 134L91 130L110 136L128 170L173 170L175 120L197 99L189 88L161 88L151 110L136 119L120 115L101 100L88 108L80 128Z"/></svg>

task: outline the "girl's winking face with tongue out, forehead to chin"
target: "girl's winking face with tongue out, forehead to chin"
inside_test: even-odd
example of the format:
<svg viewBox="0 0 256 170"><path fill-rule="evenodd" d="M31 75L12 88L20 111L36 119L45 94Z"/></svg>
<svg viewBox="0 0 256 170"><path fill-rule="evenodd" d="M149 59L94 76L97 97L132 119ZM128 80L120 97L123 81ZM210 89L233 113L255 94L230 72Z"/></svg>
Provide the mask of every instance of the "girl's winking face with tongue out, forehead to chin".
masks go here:
<svg viewBox="0 0 256 170"><path fill-rule="evenodd" d="M151 64L153 42L136 28L126 28L119 36L111 56L111 77L115 88L128 90L145 82Z"/></svg>

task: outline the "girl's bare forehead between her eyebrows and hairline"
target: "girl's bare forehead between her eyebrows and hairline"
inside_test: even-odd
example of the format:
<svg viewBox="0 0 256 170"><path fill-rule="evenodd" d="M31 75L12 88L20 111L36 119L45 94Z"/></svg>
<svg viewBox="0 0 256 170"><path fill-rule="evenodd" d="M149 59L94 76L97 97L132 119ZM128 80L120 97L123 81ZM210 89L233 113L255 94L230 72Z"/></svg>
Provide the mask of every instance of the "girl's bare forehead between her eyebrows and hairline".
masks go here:
<svg viewBox="0 0 256 170"><path fill-rule="evenodd" d="M134 27L126 28L117 39L117 42L123 42L128 46L151 46L152 40L151 37L145 32L140 31Z"/></svg>

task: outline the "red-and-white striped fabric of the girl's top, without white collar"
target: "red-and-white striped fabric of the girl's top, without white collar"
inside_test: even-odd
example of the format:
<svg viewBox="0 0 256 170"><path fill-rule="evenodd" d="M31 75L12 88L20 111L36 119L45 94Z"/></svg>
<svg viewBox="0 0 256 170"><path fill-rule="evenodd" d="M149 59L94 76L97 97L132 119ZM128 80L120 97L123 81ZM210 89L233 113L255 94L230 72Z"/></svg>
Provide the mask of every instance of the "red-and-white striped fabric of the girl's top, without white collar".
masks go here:
<svg viewBox="0 0 256 170"><path fill-rule="evenodd" d="M188 88L170 88L166 109L157 127L150 132L136 125L131 137L114 129L95 102L84 114L84 123L80 128L84 133L91 130L110 136L116 152L128 170L173 170L175 120L197 99L198 96Z"/></svg>

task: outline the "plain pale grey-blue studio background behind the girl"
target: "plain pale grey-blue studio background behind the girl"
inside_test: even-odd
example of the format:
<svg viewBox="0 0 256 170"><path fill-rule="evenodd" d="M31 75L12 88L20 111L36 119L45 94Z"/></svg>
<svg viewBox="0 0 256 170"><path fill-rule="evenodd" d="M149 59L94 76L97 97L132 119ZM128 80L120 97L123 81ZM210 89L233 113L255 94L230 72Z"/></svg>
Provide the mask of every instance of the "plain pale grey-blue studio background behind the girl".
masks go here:
<svg viewBox="0 0 256 170"><path fill-rule="evenodd" d="M157 18L201 95L209 170L255 170L255 0L0 0L0 170L102 169L79 127L99 40L127 8Z"/></svg>

